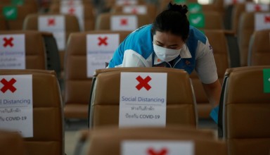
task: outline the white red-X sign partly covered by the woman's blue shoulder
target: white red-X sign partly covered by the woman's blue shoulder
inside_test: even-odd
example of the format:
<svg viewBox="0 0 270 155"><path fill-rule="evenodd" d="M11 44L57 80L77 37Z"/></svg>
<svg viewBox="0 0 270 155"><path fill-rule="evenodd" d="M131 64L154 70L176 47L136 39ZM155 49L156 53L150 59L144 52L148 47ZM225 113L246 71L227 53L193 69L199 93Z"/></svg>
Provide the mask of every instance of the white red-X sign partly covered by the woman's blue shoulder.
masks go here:
<svg viewBox="0 0 270 155"><path fill-rule="evenodd" d="M93 34L86 37L87 77L96 69L105 68L120 44L119 34Z"/></svg>

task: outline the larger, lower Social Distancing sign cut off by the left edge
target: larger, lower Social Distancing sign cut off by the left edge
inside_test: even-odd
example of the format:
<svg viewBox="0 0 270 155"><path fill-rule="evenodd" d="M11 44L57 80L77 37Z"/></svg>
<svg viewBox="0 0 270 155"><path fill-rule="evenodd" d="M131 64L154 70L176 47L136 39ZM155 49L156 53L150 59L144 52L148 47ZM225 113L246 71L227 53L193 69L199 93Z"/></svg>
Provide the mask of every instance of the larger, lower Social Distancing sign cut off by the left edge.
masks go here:
<svg viewBox="0 0 270 155"><path fill-rule="evenodd" d="M33 137L32 75L0 75L0 128Z"/></svg>

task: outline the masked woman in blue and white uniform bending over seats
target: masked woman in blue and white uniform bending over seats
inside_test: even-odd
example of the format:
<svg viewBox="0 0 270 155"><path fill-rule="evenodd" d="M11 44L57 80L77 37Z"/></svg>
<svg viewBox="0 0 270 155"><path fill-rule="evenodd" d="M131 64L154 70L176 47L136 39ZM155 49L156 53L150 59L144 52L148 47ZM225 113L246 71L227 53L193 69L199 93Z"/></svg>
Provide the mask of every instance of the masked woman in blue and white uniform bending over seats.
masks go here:
<svg viewBox="0 0 270 155"><path fill-rule="evenodd" d="M153 24L124 39L108 68L158 66L184 69L189 74L195 69L210 103L217 106L221 85L212 47L200 30L189 25L187 12L186 5L169 3Z"/></svg>

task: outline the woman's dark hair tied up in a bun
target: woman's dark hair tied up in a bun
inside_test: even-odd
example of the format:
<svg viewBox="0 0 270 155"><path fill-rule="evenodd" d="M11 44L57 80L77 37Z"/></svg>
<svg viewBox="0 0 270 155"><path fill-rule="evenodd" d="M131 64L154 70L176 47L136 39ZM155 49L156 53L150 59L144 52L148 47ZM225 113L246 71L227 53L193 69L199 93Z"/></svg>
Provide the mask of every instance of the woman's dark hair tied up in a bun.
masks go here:
<svg viewBox="0 0 270 155"><path fill-rule="evenodd" d="M168 8L162 11L156 18L152 27L152 34L156 31L171 32L186 41L189 33L189 22L186 17L188 7L186 5L168 4Z"/></svg>

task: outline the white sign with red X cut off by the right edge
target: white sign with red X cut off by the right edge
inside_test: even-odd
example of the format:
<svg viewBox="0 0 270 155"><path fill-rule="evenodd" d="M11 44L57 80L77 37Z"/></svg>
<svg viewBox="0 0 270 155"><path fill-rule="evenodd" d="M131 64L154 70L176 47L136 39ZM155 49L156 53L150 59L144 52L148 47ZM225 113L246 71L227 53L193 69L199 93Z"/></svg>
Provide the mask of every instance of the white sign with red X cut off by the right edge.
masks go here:
<svg viewBox="0 0 270 155"><path fill-rule="evenodd" d="M270 13L255 13L255 30L270 29Z"/></svg>

